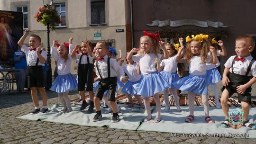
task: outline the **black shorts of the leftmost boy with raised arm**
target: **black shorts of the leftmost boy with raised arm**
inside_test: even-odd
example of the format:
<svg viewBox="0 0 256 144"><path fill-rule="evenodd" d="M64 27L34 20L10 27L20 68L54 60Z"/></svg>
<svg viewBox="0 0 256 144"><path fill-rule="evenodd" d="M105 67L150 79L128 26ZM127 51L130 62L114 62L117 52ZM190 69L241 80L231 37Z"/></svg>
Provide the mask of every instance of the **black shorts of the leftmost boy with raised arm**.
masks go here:
<svg viewBox="0 0 256 144"><path fill-rule="evenodd" d="M44 82L44 74L43 74L43 66L27 66L27 84L28 88L37 87L42 88L45 87Z"/></svg>

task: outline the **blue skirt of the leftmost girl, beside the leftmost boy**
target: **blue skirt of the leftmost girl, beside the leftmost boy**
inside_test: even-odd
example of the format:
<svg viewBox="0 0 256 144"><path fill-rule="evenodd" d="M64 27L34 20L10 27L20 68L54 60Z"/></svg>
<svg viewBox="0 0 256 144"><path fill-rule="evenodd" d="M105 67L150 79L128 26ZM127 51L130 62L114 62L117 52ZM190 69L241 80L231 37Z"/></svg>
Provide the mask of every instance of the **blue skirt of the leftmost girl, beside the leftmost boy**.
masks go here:
<svg viewBox="0 0 256 144"><path fill-rule="evenodd" d="M50 90L57 93L77 89L77 81L71 73L65 75L58 75L50 88Z"/></svg>

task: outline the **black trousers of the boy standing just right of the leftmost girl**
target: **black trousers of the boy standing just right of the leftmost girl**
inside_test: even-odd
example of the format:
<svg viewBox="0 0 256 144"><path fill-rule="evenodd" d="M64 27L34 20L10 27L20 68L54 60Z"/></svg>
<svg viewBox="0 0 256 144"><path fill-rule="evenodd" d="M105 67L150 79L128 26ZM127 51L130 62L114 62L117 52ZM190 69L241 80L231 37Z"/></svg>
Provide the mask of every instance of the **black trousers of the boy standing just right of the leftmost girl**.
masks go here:
<svg viewBox="0 0 256 144"><path fill-rule="evenodd" d="M93 90L92 71L93 64L91 63L78 65L78 91L85 90L85 84L86 91Z"/></svg>

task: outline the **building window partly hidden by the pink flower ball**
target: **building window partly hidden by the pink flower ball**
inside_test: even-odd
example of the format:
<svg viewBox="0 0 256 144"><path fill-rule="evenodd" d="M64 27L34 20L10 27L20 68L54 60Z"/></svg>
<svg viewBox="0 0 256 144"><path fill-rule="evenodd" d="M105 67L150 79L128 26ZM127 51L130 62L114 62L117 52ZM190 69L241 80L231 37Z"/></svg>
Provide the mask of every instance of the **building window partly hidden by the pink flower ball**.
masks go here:
<svg viewBox="0 0 256 144"><path fill-rule="evenodd" d="M54 4L54 8L58 11L60 15L61 23L56 24L56 27L66 27L66 6L64 3Z"/></svg>

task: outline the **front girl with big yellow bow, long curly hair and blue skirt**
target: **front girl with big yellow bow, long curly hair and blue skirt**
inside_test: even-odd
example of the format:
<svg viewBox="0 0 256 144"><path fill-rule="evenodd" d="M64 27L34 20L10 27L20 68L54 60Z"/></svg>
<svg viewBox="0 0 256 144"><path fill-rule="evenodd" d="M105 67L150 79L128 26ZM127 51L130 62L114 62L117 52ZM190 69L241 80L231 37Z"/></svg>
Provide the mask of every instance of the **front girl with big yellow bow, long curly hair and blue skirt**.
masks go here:
<svg viewBox="0 0 256 144"><path fill-rule="evenodd" d="M189 76L175 81L173 85L182 91L188 91L189 112L190 115L185 119L186 122L192 122L194 119L194 100L196 95L201 95L202 104L207 123L214 123L209 116L209 100L207 91L207 81L205 78L206 63L217 63L217 56L213 46L207 41L208 35L192 35L186 37L186 54L184 62L189 66ZM212 57L208 55L210 53Z"/></svg>

